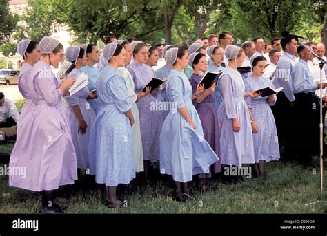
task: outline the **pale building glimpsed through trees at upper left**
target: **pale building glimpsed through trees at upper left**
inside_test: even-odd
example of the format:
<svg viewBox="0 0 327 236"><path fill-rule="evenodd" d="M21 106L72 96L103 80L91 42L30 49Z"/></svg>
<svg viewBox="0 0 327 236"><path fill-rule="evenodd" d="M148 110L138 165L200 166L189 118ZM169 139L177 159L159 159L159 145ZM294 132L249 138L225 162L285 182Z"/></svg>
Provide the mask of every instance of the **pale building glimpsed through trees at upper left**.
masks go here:
<svg viewBox="0 0 327 236"><path fill-rule="evenodd" d="M13 14L25 14L28 8L28 0L9 0L9 8L10 12ZM63 45L63 48L69 47L70 42L74 40L72 32L68 32L68 28L65 25L52 25L50 36L54 37L54 39L57 39ZM5 58L5 56L0 53L0 58ZM8 61L12 61L12 67L14 69L19 69L23 58L17 53L14 56L9 56Z"/></svg>

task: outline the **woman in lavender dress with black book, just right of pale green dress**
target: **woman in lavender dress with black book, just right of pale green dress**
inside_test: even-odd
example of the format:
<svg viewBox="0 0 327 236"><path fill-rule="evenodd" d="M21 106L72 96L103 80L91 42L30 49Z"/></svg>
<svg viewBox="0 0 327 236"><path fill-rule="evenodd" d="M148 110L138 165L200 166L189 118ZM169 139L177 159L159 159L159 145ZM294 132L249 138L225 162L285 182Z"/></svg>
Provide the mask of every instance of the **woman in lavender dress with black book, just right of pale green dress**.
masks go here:
<svg viewBox="0 0 327 236"><path fill-rule="evenodd" d="M133 41L132 52L134 61L128 65L127 69L132 75L135 93L139 94L143 87L145 87L152 78L154 78L155 71L146 65L148 60L148 46L141 41ZM144 96L137 102L139 108L139 118L141 123L141 136L143 146L143 160L144 160L144 174L148 180L148 171L150 162L158 162L160 158L160 130L162 127L161 111L157 111L154 107L159 88ZM154 108L153 108L154 107Z"/></svg>

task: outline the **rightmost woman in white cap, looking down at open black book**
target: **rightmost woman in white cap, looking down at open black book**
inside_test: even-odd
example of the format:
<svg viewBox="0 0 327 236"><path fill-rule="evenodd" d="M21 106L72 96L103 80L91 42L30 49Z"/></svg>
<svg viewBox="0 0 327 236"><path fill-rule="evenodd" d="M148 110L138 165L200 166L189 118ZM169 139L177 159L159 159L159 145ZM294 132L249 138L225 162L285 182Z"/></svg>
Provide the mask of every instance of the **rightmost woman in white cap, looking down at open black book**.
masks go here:
<svg viewBox="0 0 327 236"><path fill-rule="evenodd" d="M246 92L255 91L264 87L275 89L268 78L262 77L266 67L266 58L257 56L251 58L252 75L244 81ZM253 165L258 177L264 177L264 163L279 160L279 144L275 118L270 106L275 105L276 94L245 98L251 118L253 144L255 147L255 164Z"/></svg>

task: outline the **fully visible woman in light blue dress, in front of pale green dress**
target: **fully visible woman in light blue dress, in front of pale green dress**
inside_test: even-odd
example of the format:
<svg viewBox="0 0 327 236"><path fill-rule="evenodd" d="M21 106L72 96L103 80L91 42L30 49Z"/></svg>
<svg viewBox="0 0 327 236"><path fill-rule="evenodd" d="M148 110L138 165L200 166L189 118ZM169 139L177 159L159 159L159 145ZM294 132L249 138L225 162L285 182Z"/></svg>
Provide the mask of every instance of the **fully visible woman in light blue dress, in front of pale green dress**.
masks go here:
<svg viewBox="0 0 327 236"><path fill-rule="evenodd" d="M124 66L125 52L117 43L104 47L103 56L108 65L97 80L100 107L89 143L90 171L95 173L98 184L106 184L108 207L124 206L117 198L117 186L129 184L135 178L132 103L125 79L117 74L117 68Z"/></svg>

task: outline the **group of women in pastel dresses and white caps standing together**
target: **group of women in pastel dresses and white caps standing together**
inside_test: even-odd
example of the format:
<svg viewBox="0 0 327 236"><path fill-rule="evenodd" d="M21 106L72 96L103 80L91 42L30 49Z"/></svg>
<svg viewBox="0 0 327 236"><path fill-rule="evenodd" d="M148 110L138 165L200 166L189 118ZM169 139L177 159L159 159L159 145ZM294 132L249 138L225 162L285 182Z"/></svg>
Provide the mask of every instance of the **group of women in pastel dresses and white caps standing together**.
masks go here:
<svg viewBox="0 0 327 236"><path fill-rule="evenodd" d="M280 61L291 47L285 40ZM111 208L124 206L117 186L135 177L149 180L154 163L161 174L172 176L173 197L179 202L192 197L188 182L195 175L201 191L210 189L206 178L224 173L224 167L251 164L255 175L264 178L264 163L280 157L270 109L279 95L255 92L276 86L264 76L267 58L260 52L248 58L252 72L244 79L237 71L246 58L243 45L232 45L230 32L210 35L208 41L207 46L199 40L189 47L152 47L111 36L101 55L95 44L64 52L49 36L40 42L21 41L17 49L25 63L19 90L27 102L10 167L26 167L26 178L10 176L10 186L41 191L42 210L59 213L54 191L74 184L82 169L105 184L105 204ZM64 56L71 64L61 81L51 66L57 67ZM219 70L223 72L217 83L204 89L199 83L204 73ZM70 95L82 73L88 86ZM146 87L152 78L168 79L152 89ZM153 109L159 103L170 104L170 109Z"/></svg>

